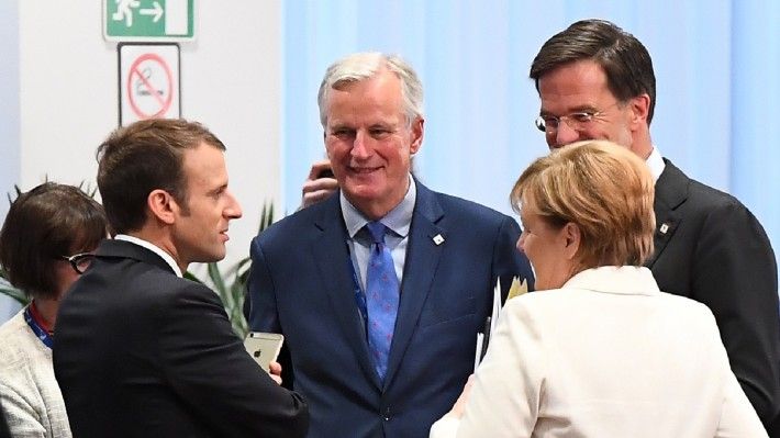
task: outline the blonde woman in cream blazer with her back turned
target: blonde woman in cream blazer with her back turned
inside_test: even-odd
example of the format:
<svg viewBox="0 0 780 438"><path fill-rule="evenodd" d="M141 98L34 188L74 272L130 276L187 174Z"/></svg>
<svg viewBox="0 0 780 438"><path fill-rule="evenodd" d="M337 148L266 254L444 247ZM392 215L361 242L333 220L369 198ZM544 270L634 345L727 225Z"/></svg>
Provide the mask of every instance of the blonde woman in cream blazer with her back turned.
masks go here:
<svg viewBox="0 0 780 438"><path fill-rule="evenodd" d="M654 181L590 141L535 160L511 194L536 292L506 302L443 437L766 437L712 312L664 293Z"/></svg>

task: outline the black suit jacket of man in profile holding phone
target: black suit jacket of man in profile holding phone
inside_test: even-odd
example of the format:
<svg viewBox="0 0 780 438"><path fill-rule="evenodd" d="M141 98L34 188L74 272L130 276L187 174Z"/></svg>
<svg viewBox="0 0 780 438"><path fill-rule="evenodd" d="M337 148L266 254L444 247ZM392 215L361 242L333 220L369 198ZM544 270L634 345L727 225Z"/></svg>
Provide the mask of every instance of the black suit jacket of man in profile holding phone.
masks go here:
<svg viewBox="0 0 780 438"><path fill-rule="evenodd" d="M209 288L105 240L57 317L75 437L300 437L308 409L254 362Z"/></svg>

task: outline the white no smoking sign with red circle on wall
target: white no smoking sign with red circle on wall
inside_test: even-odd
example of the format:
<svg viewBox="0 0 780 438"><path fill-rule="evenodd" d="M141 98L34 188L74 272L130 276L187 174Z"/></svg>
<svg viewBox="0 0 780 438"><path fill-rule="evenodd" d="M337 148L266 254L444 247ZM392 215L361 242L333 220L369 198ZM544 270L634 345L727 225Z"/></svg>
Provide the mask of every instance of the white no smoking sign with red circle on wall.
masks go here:
<svg viewBox="0 0 780 438"><path fill-rule="evenodd" d="M120 125L181 116L177 44L121 44L119 59Z"/></svg>

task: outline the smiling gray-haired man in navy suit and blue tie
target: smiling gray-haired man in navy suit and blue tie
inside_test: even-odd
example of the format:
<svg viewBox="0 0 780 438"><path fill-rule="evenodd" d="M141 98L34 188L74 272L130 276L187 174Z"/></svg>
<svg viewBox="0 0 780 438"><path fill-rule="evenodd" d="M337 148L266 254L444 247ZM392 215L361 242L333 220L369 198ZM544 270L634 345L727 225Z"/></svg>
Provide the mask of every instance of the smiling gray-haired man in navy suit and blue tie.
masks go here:
<svg viewBox="0 0 780 438"><path fill-rule="evenodd" d="M336 61L317 102L339 190L252 242L249 326L285 335L310 437L426 437L472 371L497 280L533 282L520 227L411 176L423 89L402 59Z"/></svg>

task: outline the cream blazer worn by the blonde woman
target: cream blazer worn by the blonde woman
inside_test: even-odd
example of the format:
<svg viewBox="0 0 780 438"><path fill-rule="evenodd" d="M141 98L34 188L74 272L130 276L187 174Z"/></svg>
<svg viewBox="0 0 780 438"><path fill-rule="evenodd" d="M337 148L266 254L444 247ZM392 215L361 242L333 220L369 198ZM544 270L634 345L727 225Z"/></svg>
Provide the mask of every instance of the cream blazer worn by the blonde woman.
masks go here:
<svg viewBox="0 0 780 438"><path fill-rule="evenodd" d="M443 437L766 437L715 319L646 268L602 267L510 300Z"/></svg>

